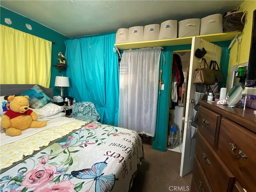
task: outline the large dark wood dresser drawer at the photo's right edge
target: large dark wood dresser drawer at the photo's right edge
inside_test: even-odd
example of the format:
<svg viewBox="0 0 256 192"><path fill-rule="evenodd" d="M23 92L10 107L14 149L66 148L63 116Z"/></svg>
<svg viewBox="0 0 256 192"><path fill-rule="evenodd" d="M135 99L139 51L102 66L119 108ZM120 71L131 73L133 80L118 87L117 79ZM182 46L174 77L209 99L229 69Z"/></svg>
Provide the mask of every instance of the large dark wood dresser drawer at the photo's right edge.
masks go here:
<svg viewBox="0 0 256 192"><path fill-rule="evenodd" d="M232 150L231 144L236 149ZM256 191L256 136L253 132L222 118L217 153L247 192ZM246 158L242 159L238 153L245 154Z"/></svg>

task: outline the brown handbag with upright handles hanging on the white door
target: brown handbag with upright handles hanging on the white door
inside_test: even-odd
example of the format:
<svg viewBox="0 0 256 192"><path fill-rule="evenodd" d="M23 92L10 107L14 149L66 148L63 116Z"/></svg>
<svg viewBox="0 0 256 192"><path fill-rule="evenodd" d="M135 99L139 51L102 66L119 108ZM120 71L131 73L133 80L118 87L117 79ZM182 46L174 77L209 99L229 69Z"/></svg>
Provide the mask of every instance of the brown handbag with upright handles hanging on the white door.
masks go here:
<svg viewBox="0 0 256 192"><path fill-rule="evenodd" d="M205 67L207 66L207 68ZM202 58L201 65L196 69L193 84L214 85L215 77L213 71L208 68L205 58Z"/></svg>

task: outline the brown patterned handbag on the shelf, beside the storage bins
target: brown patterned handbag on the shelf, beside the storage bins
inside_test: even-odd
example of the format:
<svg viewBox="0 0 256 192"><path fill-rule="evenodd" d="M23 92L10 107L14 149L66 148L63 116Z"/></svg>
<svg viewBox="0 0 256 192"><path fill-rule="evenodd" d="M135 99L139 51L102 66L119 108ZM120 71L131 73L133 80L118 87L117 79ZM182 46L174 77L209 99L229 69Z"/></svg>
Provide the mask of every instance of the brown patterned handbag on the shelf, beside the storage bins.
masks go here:
<svg viewBox="0 0 256 192"><path fill-rule="evenodd" d="M239 12L238 10L234 10L228 12L226 16L223 17L223 32L242 31L246 22L246 15L246 11Z"/></svg>

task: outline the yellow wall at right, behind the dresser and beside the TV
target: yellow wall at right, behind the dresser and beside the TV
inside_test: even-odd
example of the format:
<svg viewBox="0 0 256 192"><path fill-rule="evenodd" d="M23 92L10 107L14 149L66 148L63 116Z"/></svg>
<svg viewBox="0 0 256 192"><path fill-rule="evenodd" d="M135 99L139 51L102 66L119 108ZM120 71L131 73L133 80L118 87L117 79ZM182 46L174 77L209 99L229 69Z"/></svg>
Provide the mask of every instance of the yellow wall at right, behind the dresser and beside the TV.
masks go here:
<svg viewBox="0 0 256 192"><path fill-rule="evenodd" d="M236 63L236 51L237 51L237 42L236 41L230 49L227 87L230 84L229 79L232 74L232 71L231 71L232 66L242 64L242 63L249 61L251 38L252 38L252 21L253 21L252 17L253 17L253 11L255 9L256 9L256 1L255 0L246 0L240 6L240 11L247 11L247 22L244 25L244 30L238 36L238 37L242 38L240 48L239 48L240 51L239 51L238 63Z"/></svg>

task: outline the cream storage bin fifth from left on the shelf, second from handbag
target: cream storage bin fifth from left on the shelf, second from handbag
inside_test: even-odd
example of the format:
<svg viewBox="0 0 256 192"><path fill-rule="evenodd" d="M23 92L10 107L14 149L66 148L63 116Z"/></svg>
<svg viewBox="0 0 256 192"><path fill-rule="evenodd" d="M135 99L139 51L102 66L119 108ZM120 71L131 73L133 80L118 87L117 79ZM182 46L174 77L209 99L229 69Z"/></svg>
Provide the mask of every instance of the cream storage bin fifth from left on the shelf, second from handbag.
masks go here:
<svg viewBox="0 0 256 192"><path fill-rule="evenodd" d="M178 37L198 36L201 19L186 19L178 22Z"/></svg>

